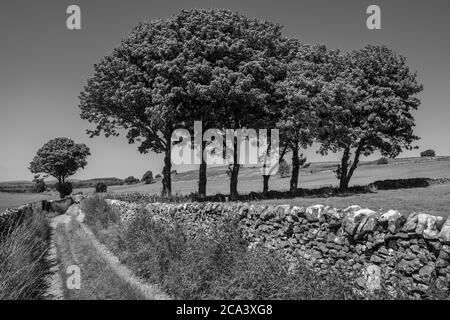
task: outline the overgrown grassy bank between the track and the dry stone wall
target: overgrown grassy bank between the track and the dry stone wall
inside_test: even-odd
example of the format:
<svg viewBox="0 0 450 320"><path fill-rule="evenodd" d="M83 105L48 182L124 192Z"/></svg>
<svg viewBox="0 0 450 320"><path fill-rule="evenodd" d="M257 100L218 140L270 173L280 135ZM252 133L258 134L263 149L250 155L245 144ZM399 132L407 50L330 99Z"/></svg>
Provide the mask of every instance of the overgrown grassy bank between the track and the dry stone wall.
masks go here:
<svg viewBox="0 0 450 320"><path fill-rule="evenodd" d="M247 250L236 221L192 239L183 226L157 223L147 212L120 222L99 198L85 200L82 208L85 222L123 263L178 299L357 298L342 275L319 276L302 264L289 272L277 252Z"/></svg>

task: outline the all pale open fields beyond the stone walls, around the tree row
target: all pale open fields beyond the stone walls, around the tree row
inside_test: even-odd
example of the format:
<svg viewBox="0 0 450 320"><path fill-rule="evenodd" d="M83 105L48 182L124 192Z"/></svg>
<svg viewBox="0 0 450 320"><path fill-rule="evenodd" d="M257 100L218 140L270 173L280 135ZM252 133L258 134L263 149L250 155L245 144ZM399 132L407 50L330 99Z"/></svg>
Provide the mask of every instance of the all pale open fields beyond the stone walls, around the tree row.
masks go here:
<svg viewBox="0 0 450 320"><path fill-rule="evenodd" d="M299 176L300 188L317 188L326 185L337 185L333 173L335 162L312 163L309 168L302 169ZM225 167L208 168L207 193L227 194L229 178ZM450 178L450 157L436 158L403 158L390 160L387 165L377 165L375 162L362 162L352 178L351 185L367 185L376 180L405 178ZM197 190L197 171L188 171L173 175L173 193L189 194ZM273 176L270 179L271 190L287 190L289 178ZM117 193L140 192L159 194L162 185L160 180L152 184L116 185L108 187L108 191ZM242 168L239 173L238 190L240 193L262 191L262 178L256 168ZM93 188L76 188L74 192L91 193ZM11 194L0 193L0 209L13 207L27 202L50 199L55 195ZM424 211L432 214L448 215L450 208L450 185L434 185L428 188L377 191L370 194L353 195L350 197L332 198L297 198L289 200L271 200L271 203L292 203L310 205L323 203L335 207L346 207L360 204L371 209L398 209L405 213Z"/></svg>

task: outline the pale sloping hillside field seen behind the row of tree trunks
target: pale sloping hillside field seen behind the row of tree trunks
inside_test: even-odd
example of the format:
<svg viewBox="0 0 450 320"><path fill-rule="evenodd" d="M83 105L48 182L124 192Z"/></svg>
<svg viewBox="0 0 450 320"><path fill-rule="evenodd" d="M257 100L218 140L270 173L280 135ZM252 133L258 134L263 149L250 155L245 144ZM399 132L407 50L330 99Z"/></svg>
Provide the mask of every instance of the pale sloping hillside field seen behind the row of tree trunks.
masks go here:
<svg viewBox="0 0 450 320"><path fill-rule="evenodd" d="M337 179L333 173L335 162L312 163L307 169L303 169L299 176L299 188L317 188L325 185L337 185ZM406 178L450 178L450 157L438 157L435 159L406 158L392 160L388 165L377 165L373 162L362 162L355 171L350 185L367 185L376 180L406 179ZM174 194L189 194L197 190L198 172L189 171L173 176L172 191ZM249 193L262 192L262 177L258 169L242 168L239 172L238 191ZM271 190L288 190L289 178L273 176L270 178ZM112 192L142 192L158 194L161 192L161 181L153 184L137 184L111 186ZM92 192L92 188L77 189L83 193ZM229 178L226 168L208 168L207 193L209 195L229 192Z"/></svg>

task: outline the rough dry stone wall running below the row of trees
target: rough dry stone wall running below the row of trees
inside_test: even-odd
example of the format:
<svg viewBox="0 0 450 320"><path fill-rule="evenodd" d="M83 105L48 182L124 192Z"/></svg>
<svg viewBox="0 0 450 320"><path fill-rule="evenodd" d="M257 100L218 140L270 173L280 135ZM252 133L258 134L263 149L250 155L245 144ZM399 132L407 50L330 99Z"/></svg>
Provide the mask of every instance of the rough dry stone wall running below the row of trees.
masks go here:
<svg viewBox="0 0 450 320"><path fill-rule="evenodd" d="M192 236L208 232L224 218L239 220L250 246L280 250L295 263L305 261L319 273L345 272L362 288L396 286L420 297L430 284L450 284L450 219L424 213L375 212L354 205L339 210L247 203L151 203L146 207L106 200L122 220L146 210L167 224L177 222Z"/></svg>

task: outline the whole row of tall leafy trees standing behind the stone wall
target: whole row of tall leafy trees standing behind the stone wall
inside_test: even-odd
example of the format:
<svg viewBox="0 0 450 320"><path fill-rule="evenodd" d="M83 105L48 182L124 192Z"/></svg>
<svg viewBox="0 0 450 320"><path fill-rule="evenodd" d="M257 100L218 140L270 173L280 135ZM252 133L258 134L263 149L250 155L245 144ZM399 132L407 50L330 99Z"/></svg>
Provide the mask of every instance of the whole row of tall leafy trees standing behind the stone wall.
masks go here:
<svg viewBox="0 0 450 320"><path fill-rule="evenodd" d="M406 59L385 46L350 53L284 37L282 27L226 10L187 10L140 23L94 66L80 94L88 134L125 133L142 153L164 154L163 194L171 194L171 135L177 128L278 128L280 159L292 157L296 189L301 151L342 152L340 188L361 156L411 149L412 110L422 85ZM230 195L237 197L234 139ZM206 147L203 142L202 148ZM199 168L206 195L206 163ZM264 191L270 176L264 176Z"/></svg>

